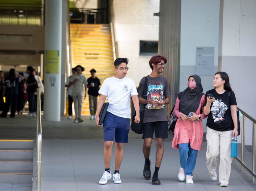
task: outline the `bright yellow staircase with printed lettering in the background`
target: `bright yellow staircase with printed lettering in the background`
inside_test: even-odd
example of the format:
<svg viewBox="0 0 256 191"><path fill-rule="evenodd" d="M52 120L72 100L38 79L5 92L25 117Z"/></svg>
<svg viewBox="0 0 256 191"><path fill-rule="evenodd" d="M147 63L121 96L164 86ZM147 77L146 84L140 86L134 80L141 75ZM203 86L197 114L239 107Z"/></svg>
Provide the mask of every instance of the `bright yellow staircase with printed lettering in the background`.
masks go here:
<svg viewBox="0 0 256 191"><path fill-rule="evenodd" d="M91 77L94 68L103 81L115 75L111 31L109 24L70 24L72 68L81 65L83 75ZM82 115L90 115L88 96L83 102Z"/></svg>

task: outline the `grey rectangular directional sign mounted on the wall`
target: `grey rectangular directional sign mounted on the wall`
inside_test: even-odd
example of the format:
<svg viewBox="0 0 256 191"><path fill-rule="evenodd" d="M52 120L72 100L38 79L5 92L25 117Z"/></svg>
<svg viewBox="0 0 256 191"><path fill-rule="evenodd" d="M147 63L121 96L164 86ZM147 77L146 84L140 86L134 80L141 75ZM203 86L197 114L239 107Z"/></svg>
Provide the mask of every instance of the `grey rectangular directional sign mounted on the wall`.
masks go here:
<svg viewBox="0 0 256 191"><path fill-rule="evenodd" d="M214 75L214 47L196 47L196 74L199 76Z"/></svg>

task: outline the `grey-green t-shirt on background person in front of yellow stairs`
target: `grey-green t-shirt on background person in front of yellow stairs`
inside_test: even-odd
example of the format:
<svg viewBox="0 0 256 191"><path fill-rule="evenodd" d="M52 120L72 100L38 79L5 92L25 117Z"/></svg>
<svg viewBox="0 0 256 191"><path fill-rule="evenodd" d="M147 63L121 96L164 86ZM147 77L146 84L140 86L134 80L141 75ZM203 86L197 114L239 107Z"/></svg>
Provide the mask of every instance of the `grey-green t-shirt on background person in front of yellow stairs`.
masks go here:
<svg viewBox="0 0 256 191"><path fill-rule="evenodd" d="M78 96L78 95L82 95L84 94L84 86L83 85L87 85L87 80L85 78L84 75L78 75L78 74L73 74L69 81L72 82L74 81L76 78L78 78L79 80L76 81L73 84L73 88L72 88L72 96Z"/></svg>

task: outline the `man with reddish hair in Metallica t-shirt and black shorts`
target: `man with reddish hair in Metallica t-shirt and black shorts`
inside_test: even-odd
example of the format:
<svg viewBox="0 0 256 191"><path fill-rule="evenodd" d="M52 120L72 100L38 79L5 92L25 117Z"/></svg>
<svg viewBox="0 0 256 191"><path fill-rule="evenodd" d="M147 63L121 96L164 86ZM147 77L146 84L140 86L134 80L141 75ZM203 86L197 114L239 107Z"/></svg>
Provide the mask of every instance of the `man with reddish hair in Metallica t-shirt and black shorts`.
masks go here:
<svg viewBox="0 0 256 191"><path fill-rule="evenodd" d="M147 180L151 178L151 162L149 160L149 155L155 131L157 150L155 171L152 177L153 185L161 184L158 178L158 171L163 158L163 139L168 137L167 112L165 104L169 104L170 102L170 84L167 78L160 75L166 66L166 62L166 58L160 55L153 56L149 60L149 66L152 69L152 72L147 76L147 99L143 99L145 86L144 77L140 81L137 89L139 103L147 104L144 113L142 135L142 138L144 139L143 154L145 158L143 177Z"/></svg>

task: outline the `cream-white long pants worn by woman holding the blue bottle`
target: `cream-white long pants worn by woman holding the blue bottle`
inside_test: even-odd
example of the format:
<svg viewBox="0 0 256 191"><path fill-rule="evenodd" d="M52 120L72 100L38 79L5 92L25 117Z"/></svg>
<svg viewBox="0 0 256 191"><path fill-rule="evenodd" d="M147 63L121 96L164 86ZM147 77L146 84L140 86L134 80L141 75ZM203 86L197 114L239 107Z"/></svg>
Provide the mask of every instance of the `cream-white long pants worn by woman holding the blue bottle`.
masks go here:
<svg viewBox="0 0 256 191"><path fill-rule="evenodd" d="M215 131L207 127L206 166L210 174L216 172L217 158L220 154L219 181L224 184L229 184L232 134L233 130Z"/></svg>

